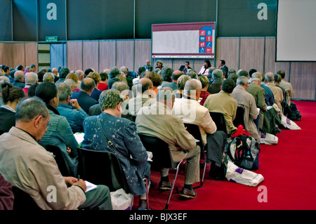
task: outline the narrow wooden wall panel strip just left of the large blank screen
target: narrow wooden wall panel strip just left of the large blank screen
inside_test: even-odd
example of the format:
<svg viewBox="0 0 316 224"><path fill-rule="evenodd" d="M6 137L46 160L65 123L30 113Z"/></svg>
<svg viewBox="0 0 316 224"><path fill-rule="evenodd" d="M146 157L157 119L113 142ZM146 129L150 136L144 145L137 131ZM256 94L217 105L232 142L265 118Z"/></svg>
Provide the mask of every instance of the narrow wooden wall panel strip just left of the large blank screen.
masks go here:
<svg viewBox="0 0 316 224"><path fill-rule="evenodd" d="M265 38L265 67L262 73L275 73L275 38Z"/></svg>

